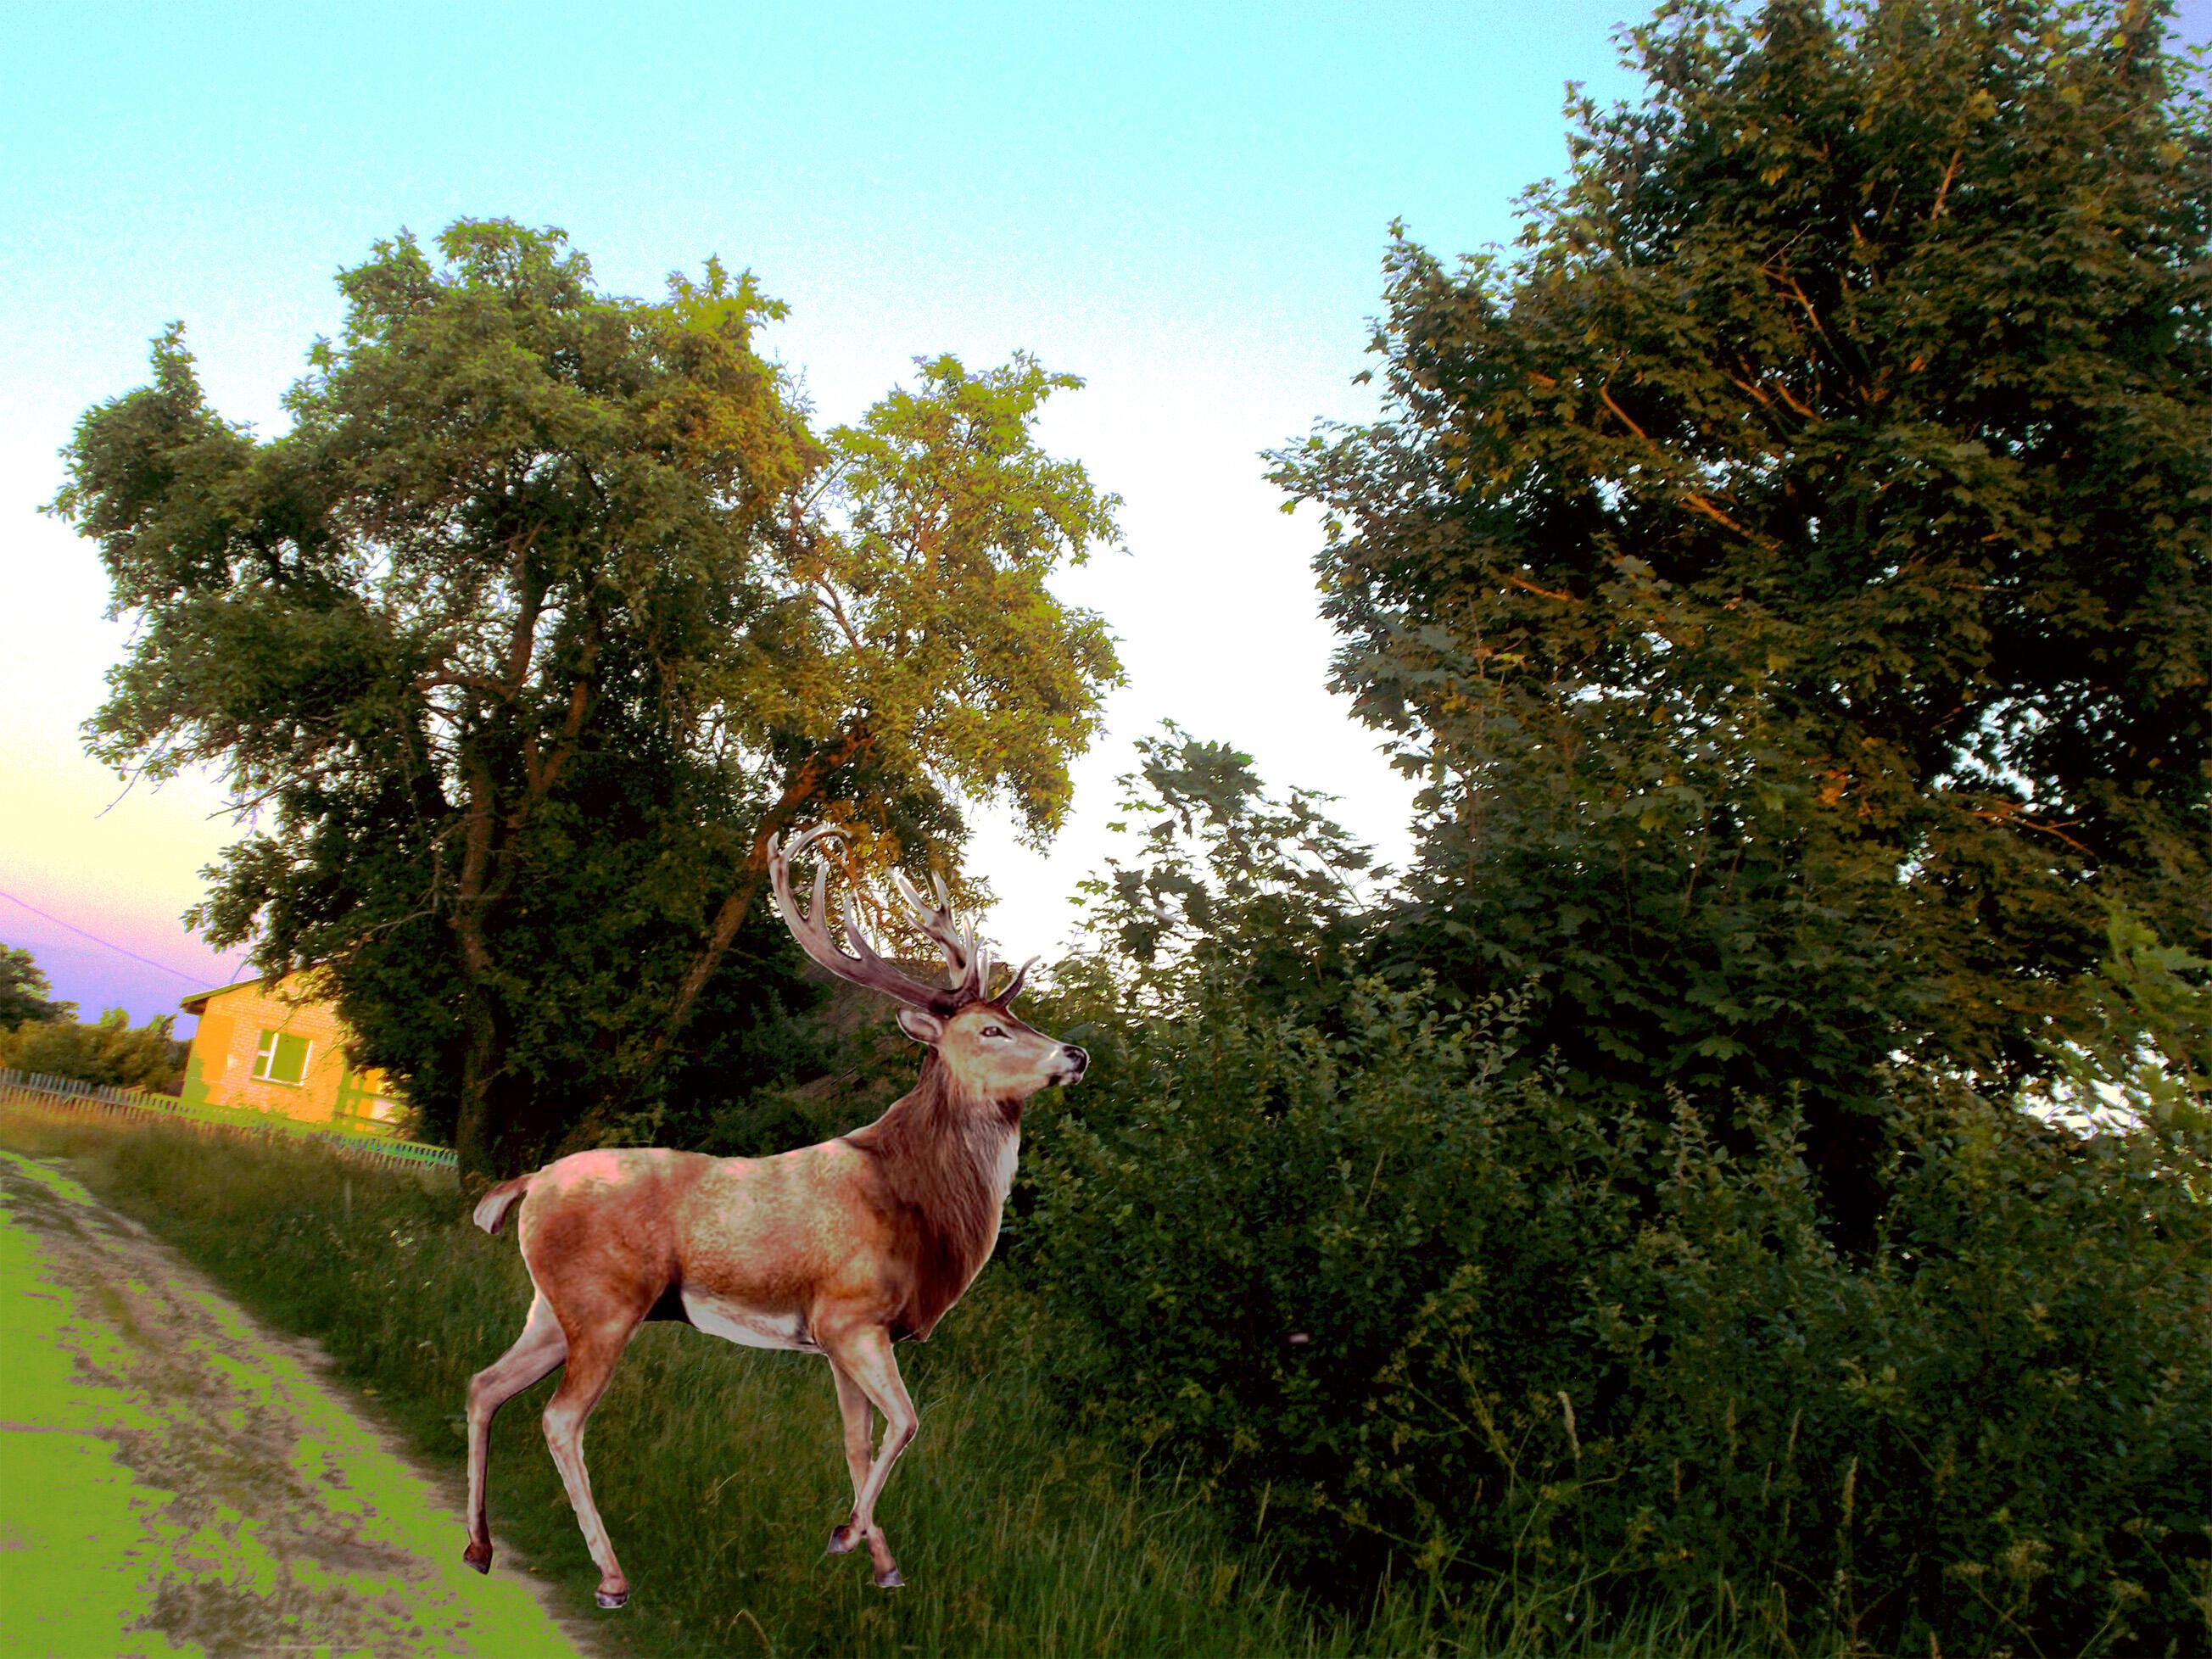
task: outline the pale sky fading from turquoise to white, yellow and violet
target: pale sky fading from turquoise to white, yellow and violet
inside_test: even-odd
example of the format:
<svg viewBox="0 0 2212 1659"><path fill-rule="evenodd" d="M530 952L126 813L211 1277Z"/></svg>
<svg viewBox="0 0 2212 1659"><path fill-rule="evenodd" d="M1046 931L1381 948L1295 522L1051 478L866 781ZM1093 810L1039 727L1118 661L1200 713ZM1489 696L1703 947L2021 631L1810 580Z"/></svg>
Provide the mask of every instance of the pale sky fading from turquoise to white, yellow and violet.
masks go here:
<svg viewBox="0 0 2212 1659"><path fill-rule="evenodd" d="M1263 451L1374 414L1394 219L1511 241L1566 166L1568 82L1632 97L1628 0L1332 7L4 4L0 60L0 942L86 1018L243 978L181 914L237 838L217 779L126 787L82 752L126 622L42 513L60 447L184 321L210 403L263 434L332 276L400 228L560 226L602 288L719 254L790 319L765 349L823 425L916 356L1086 378L1040 427L1121 495L1124 551L1055 586L1128 684L1044 854L984 812L969 865L1015 958L1075 931L1117 774L1175 719L1405 856L1409 785L1327 692L1310 513ZM2212 35L2212 0L2181 9ZM190 1020L179 1022L188 1031Z"/></svg>

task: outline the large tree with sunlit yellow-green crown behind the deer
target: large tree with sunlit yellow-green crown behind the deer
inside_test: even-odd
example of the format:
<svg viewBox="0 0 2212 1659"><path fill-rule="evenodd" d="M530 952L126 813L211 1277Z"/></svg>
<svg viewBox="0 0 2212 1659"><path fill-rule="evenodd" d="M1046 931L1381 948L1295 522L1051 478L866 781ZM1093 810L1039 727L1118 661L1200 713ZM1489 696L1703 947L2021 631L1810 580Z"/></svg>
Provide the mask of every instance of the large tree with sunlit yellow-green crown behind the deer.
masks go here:
<svg viewBox="0 0 2212 1659"><path fill-rule="evenodd" d="M697 1009L790 993L772 834L836 814L916 872L964 799L1051 834L1119 670L1046 577L1115 502L1035 447L1077 380L1029 358L925 363L818 436L750 274L646 303L551 230L438 252L341 274L276 438L206 407L170 330L55 507L137 622L93 750L221 765L254 818L197 925L327 964L358 1060L482 1177L655 1121L723 1035Z"/></svg>

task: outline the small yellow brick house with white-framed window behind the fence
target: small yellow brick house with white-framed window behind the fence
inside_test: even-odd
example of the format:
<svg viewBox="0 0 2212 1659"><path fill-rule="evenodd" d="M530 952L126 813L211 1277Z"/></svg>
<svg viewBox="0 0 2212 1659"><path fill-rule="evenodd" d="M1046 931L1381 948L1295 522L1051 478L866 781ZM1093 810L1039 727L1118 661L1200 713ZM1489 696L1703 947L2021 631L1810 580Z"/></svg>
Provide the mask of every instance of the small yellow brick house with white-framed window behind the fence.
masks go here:
<svg viewBox="0 0 2212 1659"><path fill-rule="evenodd" d="M396 1130L407 1113L398 1088L374 1066L345 1057L354 1033L312 975L239 980L184 1000L199 1015L184 1068L190 1106L237 1106L301 1124Z"/></svg>

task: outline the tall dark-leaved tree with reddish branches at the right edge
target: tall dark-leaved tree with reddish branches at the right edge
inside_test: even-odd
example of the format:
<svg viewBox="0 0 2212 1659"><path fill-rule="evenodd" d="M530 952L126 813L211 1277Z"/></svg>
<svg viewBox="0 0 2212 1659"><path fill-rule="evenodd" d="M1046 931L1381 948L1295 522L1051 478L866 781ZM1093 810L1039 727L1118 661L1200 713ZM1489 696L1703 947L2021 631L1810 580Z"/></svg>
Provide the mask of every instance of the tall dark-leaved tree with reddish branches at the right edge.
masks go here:
<svg viewBox="0 0 2212 1659"><path fill-rule="evenodd" d="M2212 122L2168 9L1670 4L1517 257L1389 257L1389 409L1276 458L1427 779L1400 949L1584 1086L2004 1097L2108 918L2212 945ZM2130 1004L2146 1006L2146 1004ZM2104 1031L2110 1037L2108 1031Z"/></svg>

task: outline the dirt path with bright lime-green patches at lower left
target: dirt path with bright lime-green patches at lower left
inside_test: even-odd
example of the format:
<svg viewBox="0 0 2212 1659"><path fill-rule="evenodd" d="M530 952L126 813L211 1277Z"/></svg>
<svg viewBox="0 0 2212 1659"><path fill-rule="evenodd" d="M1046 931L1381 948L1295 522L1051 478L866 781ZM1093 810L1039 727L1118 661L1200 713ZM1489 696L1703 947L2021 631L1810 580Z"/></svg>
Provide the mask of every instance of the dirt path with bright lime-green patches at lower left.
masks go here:
<svg viewBox="0 0 2212 1659"><path fill-rule="evenodd" d="M0 1655L575 1655L319 1371L0 1150Z"/></svg>

